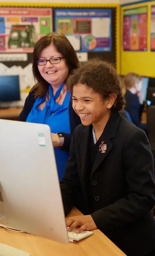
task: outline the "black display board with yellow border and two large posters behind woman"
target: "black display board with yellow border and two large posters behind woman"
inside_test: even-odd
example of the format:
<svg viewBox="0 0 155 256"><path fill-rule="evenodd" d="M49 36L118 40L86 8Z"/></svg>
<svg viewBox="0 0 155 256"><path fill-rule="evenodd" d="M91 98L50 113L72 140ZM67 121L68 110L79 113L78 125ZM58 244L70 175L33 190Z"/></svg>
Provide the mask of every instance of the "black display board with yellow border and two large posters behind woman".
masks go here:
<svg viewBox="0 0 155 256"><path fill-rule="evenodd" d="M75 28L78 29L76 32L80 32L76 37L80 36L81 41L80 47L78 45L79 48L75 50L79 54L86 53L85 60L99 57L111 61L116 66L118 74L120 74L120 37L118 36L120 29L119 4L50 4L35 2L0 3L0 7L0 76L3 74L19 76L21 94L21 102L18 102L19 106L23 106L28 92L35 84L32 74L32 57L35 42L42 37L44 33L48 34L55 30L60 32L64 29L64 23L63 28L61 28L62 24L58 24L57 20L64 19L64 17L62 15L61 17L59 17L60 15L57 16L56 12L62 12L68 9L70 12L72 11L74 13L75 10L78 12L81 11L82 13L89 11L88 15L85 15L85 17L78 17L78 19L76 19ZM101 28L98 27L96 28L97 31L95 31L96 34L93 35L92 29L93 31L95 30L94 26L97 26L95 22L98 18L105 21L104 26L107 31L105 34L101 34ZM73 16L67 17L67 19L73 19ZM86 19L88 21L87 25L91 23L91 26L85 26L85 29L88 29L86 31L87 33L81 31L82 22L86 22ZM18 25L22 26L18 27ZM16 45L12 45L12 42L9 42L10 34L15 32L13 36L16 37L18 30L18 32L20 31L20 36L26 36L26 27L28 30L30 30L30 28L32 30L32 36L28 38L30 43L25 42L26 44L23 46L24 42L20 40ZM66 36L68 38L70 37L71 43L74 44L72 41L73 34L70 33L70 31ZM86 36L87 38L85 38ZM83 44L83 42L85 43ZM74 48L76 47L77 44L74 44ZM78 55L78 57L80 60L81 55Z"/></svg>

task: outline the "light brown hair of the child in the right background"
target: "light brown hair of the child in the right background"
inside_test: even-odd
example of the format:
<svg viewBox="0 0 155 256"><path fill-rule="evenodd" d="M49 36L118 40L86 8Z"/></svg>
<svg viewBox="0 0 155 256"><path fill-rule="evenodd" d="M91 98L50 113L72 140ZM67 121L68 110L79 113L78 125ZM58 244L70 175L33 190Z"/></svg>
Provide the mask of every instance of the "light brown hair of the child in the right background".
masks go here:
<svg viewBox="0 0 155 256"><path fill-rule="evenodd" d="M136 73L128 73L123 79L123 83L127 90L135 87L136 82L140 81L142 81L142 77Z"/></svg>

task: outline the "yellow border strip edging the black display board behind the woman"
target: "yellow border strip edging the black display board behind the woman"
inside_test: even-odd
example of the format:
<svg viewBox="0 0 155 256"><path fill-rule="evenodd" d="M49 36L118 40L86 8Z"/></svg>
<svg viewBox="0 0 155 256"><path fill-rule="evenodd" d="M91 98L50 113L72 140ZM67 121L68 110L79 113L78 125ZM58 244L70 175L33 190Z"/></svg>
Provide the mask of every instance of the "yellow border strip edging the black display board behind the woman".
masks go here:
<svg viewBox="0 0 155 256"><path fill-rule="evenodd" d="M82 3L11 3L0 2L2 7L50 7L50 8L116 8L116 70L120 74L120 4L82 4Z"/></svg>

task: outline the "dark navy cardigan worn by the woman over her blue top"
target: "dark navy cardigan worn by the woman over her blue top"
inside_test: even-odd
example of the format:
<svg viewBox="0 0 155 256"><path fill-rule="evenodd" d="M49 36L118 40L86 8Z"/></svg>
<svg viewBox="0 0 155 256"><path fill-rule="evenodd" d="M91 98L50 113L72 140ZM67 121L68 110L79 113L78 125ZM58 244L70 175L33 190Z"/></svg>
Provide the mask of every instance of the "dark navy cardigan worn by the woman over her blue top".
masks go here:
<svg viewBox="0 0 155 256"><path fill-rule="evenodd" d="M26 98L24 108L21 111L20 116L19 116L20 121L26 122L27 116L30 113L34 103L35 103L35 97L34 97L34 91L33 91L33 92L30 92ZM78 124L81 124L80 117L75 113L75 111L72 108L72 99L69 102L69 121L70 121L71 134L63 132L63 124L62 124L62 132L61 132L64 136L64 145L61 147L61 149L65 150L67 152L69 152L71 139L72 139L72 133L74 131L74 128Z"/></svg>

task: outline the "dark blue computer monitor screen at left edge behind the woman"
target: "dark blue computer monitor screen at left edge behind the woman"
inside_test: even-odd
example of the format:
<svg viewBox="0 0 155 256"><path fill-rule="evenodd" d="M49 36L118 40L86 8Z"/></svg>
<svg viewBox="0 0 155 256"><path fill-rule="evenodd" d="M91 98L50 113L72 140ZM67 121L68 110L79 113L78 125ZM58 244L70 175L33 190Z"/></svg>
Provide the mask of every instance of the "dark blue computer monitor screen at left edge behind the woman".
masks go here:
<svg viewBox="0 0 155 256"><path fill-rule="evenodd" d="M19 76L0 76L0 101L20 100Z"/></svg>

